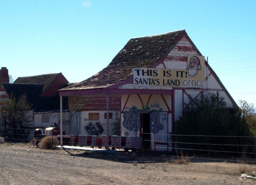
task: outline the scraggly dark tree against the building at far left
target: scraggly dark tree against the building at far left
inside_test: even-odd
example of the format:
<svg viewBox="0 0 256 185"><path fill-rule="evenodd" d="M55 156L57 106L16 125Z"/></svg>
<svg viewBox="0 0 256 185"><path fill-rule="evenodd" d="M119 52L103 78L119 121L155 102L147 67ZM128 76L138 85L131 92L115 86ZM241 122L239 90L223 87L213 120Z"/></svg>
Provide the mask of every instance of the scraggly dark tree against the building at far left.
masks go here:
<svg viewBox="0 0 256 185"><path fill-rule="evenodd" d="M23 123L28 121L27 111L31 110L31 105L27 103L26 95L20 95L18 101L14 96L9 96L8 101L0 106L1 133L8 138L26 139L28 130Z"/></svg>

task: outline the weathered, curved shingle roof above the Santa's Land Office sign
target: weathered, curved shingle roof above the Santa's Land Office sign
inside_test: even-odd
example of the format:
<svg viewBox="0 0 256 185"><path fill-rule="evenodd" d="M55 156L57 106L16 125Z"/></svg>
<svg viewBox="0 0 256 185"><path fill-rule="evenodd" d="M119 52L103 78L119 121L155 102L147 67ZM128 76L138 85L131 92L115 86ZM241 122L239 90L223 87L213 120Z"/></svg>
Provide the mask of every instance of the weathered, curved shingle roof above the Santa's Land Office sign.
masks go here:
<svg viewBox="0 0 256 185"><path fill-rule="evenodd" d="M105 88L132 77L132 68L147 68L170 51L185 30L132 38L110 64L97 74L61 90Z"/></svg>

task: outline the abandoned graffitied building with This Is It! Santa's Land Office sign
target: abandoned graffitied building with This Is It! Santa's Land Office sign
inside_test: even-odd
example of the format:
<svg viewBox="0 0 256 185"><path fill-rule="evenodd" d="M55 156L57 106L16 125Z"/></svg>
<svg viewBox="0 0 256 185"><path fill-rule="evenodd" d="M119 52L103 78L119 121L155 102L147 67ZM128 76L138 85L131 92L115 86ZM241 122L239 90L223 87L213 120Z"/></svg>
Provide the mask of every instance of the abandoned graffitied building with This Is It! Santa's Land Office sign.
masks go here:
<svg viewBox="0 0 256 185"><path fill-rule="evenodd" d="M59 90L60 111L62 98L72 97L70 134L81 139L101 135L102 145L123 146L124 138L129 146L171 151L170 134L184 103L202 93L218 93L235 105L187 32L179 30L130 39L107 67Z"/></svg>

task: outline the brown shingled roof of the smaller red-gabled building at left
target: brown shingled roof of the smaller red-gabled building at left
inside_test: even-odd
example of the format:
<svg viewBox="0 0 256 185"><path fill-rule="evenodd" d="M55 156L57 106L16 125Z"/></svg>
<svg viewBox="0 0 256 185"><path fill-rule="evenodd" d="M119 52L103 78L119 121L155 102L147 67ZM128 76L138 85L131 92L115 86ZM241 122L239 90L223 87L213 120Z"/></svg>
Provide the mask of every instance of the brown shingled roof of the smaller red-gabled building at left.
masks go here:
<svg viewBox="0 0 256 185"><path fill-rule="evenodd" d="M61 75L61 72L53 73L53 74L36 75L36 76L18 77L14 81L14 83L44 84L44 87L42 90L44 91L59 75Z"/></svg>

